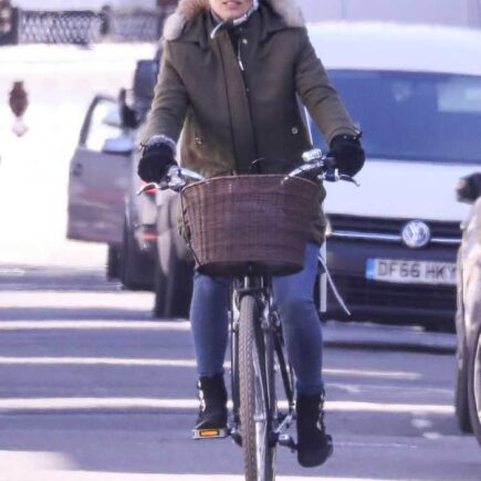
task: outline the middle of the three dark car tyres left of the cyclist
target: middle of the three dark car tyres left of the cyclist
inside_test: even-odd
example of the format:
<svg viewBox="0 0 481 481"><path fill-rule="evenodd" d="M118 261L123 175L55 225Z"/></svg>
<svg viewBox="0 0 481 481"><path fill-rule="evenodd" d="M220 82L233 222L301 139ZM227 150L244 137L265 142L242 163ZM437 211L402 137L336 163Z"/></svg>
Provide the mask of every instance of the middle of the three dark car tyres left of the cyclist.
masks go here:
<svg viewBox="0 0 481 481"><path fill-rule="evenodd" d="M137 245L132 228L127 220L124 223L124 243L122 249L122 283L132 291L149 290L150 285L145 279L145 272L151 266L151 260L144 254Z"/></svg>

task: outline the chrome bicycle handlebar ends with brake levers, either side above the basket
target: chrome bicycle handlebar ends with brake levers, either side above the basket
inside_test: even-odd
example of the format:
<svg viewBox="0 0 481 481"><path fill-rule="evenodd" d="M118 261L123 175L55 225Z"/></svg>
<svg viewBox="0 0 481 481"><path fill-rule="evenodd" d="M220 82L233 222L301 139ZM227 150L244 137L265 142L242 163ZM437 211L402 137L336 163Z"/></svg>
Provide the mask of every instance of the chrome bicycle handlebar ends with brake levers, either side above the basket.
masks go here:
<svg viewBox="0 0 481 481"><path fill-rule="evenodd" d="M336 160L334 157L323 156L322 150L318 148L305 151L302 155L302 159L304 160L304 164L286 174L285 178L310 174L311 176L315 176L318 179L325 180L327 182L337 182L339 180L344 180L359 187L359 184L353 177L338 172L335 166ZM137 196L151 189L171 189L178 192L186 187L186 179L201 181L206 180L206 177L186 167L171 166L168 169L165 179L163 179L160 182L146 184L137 191Z"/></svg>

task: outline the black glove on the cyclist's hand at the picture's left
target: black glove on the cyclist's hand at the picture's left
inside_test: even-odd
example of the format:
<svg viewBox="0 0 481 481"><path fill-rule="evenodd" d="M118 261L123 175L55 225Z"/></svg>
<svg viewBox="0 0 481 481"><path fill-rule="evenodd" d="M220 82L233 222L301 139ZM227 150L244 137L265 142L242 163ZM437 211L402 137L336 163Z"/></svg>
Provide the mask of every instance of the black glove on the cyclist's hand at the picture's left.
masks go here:
<svg viewBox="0 0 481 481"><path fill-rule="evenodd" d="M164 142L147 144L138 163L137 174L146 182L160 182L171 166L176 166L172 147Z"/></svg>

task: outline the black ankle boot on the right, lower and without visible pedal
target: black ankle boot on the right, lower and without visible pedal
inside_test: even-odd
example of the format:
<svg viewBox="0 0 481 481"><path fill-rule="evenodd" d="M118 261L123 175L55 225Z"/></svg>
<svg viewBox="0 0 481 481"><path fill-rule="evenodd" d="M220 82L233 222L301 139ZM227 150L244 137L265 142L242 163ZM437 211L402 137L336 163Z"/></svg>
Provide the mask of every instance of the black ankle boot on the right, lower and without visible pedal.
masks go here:
<svg viewBox="0 0 481 481"><path fill-rule="evenodd" d="M313 468L333 453L333 438L324 426L324 394L297 396L297 461Z"/></svg>

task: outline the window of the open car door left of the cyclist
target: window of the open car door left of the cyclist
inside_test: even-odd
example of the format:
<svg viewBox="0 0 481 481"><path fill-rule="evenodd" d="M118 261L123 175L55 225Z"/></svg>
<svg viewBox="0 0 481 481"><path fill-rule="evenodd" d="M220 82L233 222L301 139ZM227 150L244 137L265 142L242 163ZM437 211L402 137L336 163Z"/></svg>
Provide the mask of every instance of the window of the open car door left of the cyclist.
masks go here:
<svg viewBox="0 0 481 481"><path fill-rule="evenodd" d="M117 104L106 100L98 102L92 112L85 147L90 150L101 151L107 139L122 135L119 123Z"/></svg>

